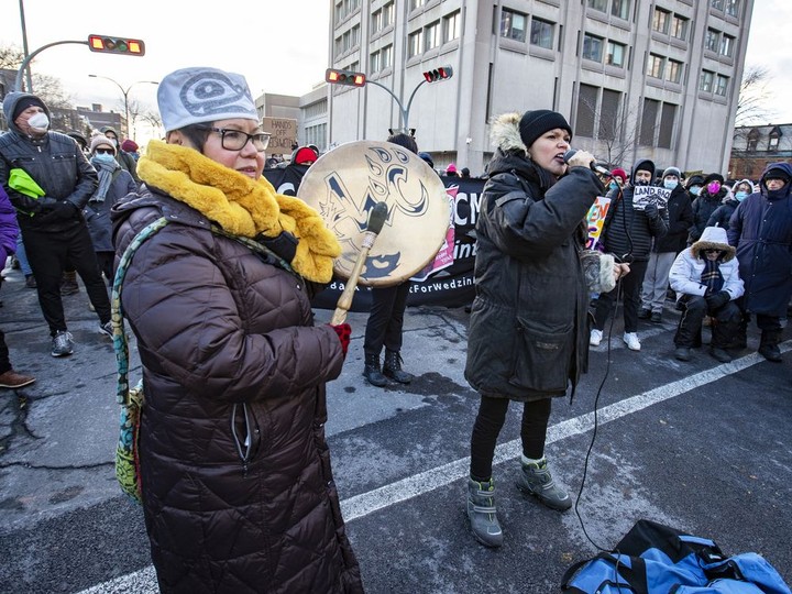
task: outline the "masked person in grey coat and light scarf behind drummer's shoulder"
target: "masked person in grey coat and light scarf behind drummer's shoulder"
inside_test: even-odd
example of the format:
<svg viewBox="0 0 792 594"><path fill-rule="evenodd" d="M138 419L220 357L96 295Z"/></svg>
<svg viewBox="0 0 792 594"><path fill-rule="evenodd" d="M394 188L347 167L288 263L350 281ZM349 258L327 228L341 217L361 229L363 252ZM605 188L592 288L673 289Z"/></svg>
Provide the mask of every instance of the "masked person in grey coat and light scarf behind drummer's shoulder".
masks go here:
<svg viewBox="0 0 792 594"><path fill-rule="evenodd" d="M129 172L116 161L116 146L107 136L98 135L90 143L90 163L99 175L99 187L88 199L82 216L94 242L99 270L108 283L113 280L112 223L110 209L121 198L135 190L135 183Z"/></svg>

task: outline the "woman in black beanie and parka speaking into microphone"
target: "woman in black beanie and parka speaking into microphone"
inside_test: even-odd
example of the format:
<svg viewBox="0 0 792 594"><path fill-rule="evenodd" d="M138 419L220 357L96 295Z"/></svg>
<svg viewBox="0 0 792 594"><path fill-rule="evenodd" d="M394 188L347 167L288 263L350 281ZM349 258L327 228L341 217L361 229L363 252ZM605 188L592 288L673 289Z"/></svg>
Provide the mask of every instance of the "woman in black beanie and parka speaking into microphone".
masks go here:
<svg viewBox="0 0 792 594"><path fill-rule="evenodd" d="M522 403L517 487L558 510L572 506L544 458L550 403L585 371L586 278L613 283L627 272L585 250L586 212L604 188L584 151L566 155L572 129L549 110L492 122L497 147L487 165L476 222L476 297L471 308L465 378L481 394L471 438L468 516L475 538L499 547L493 455L510 400ZM585 262L585 265L584 265Z"/></svg>

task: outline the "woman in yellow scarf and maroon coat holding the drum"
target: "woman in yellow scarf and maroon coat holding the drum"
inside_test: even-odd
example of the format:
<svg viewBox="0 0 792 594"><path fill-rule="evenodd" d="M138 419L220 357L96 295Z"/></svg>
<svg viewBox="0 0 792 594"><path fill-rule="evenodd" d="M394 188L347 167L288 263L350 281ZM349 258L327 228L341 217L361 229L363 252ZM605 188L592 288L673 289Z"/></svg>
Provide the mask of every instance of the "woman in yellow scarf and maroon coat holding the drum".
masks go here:
<svg viewBox="0 0 792 594"><path fill-rule="evenodd" d="M211 92L206 92L210 89ZM157 90L165 142L112 209L138 339L143 515L160 591L363 592L324 438L349 326L310 298L341 253L262 176L270 134L242 75L183 68ZM342 328L345 326L345 328Z"/></svg>

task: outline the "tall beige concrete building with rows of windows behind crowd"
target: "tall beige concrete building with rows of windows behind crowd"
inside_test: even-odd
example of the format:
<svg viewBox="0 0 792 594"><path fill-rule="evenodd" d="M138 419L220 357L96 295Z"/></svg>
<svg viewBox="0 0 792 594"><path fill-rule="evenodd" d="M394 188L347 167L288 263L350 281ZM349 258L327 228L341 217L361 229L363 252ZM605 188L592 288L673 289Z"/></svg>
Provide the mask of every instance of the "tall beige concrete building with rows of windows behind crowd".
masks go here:
<svg viewBox="0 0 792 594"><path fill-rule="evenodd" d="M407 112L438 168L476 174L491 117L549 108L604 162L727 170L754 0L330 4L332 66L370 81L328 88L330 146L383 140ZM450 80L422 82L442 65Z"/></svg>

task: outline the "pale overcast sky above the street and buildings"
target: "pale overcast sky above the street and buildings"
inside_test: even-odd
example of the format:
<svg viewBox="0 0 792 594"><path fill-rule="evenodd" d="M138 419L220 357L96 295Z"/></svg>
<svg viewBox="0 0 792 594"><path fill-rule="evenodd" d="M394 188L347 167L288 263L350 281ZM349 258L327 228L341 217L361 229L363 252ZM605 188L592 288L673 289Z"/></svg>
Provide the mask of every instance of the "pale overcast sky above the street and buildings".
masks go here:
<svg viewBox="0 0 792 594"><path fill-rule="evenodd" d="M707 0L700 0L707 1ZM0 43L22 47L19 0L1 0ZM56 41L85 41L91 33L145 41L145 57L91 53L59 45L42 52L34 72L58 77L81 106L101 102L123 110L116 85L158 80L186 66L215 66L245 75L254 96L304 95L321 82L328 67L330 0L253 2L185 0L25 0L29 51ZM771 72L769 107L774 123L792 123L792 0L756 0L748 41L748 65ZM155 105L154 85L135 85L130 98Z"/></svg>

